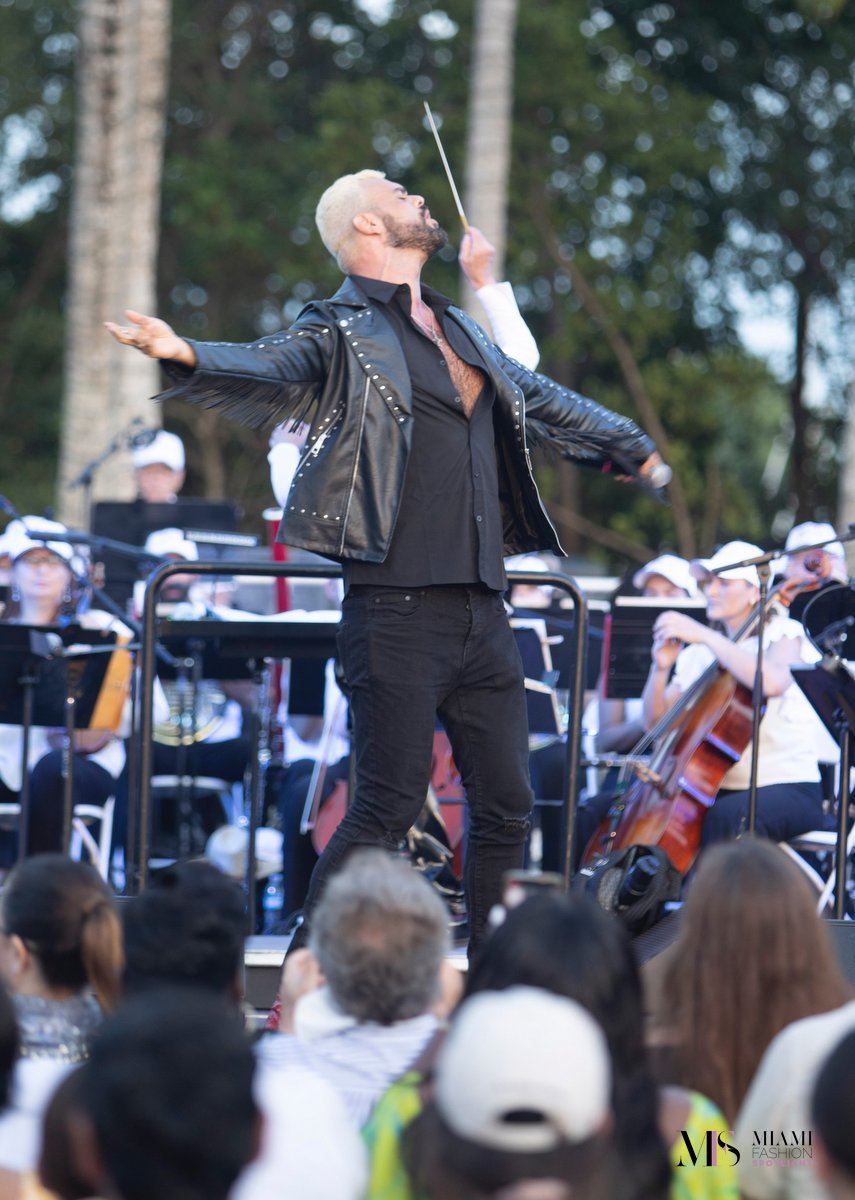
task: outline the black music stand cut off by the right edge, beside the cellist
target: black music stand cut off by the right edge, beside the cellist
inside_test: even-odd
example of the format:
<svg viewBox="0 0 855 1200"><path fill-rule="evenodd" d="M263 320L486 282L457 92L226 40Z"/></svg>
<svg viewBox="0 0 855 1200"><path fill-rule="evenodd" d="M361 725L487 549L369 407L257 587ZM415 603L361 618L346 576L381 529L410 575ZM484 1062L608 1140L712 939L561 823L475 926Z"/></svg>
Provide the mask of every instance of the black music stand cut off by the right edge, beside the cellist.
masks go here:
<svg viewBox="0 0 855 1200"><path fill-rule="evenodd" d="M841 748L837 788L837 860L835 864L835 918L843 919L849 841L849 768L855 732L855 676L841 659L825 658L812 666L790 667L793 678Z"/></svg>

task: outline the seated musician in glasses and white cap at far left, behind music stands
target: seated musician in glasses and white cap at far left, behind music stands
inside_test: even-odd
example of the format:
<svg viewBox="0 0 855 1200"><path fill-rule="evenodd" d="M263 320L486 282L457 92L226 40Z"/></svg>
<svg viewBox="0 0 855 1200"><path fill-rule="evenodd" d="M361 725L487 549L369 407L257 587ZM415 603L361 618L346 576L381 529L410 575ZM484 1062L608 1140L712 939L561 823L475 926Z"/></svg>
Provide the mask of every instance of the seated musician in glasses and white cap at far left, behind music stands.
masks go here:
<svg viewBox="0 0 855 1200"><path fill-rule="evenodd" d="M10 523L7 548L12 559L12 592L4 620L20 625L74 623L84 629L107 629L130 637L130 630L109 613L84 610L72 565L73 548L62 540L66 529L56 521L24 517ZM41 536L50 540L41 541ZM130 680L128 680L130 682ZM115 781L125 766L125 748L118 733L78 731L74 736L74 804L102 804L114 794ZM61 773L62 730L34 726L30 730L29 770L30 814L28 853L58 851L62 841ZM23 737L18 725L0 725L0 800L18 802L23 782ZM0 859L8 865L14 857L17 835L0 835Z"/></svg>

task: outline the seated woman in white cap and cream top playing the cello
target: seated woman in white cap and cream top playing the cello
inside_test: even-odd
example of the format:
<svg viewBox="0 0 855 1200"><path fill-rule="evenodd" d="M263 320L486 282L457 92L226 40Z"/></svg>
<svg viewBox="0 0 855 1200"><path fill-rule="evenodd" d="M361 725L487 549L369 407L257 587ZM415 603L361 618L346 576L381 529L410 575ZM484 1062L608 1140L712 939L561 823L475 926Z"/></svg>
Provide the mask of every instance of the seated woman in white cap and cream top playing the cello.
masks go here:
<svg viewBox="0 0 855 1200"><path fill-rule="evenodd" d="M686 613L665 612L653 626L652 665L644 690L647 728L663 716L713 661L749 691L754 685L758 638L736 640L759 599L760 580L754 566L723 575L713 570L763 551L743 541L722 546L710 559L695 559L694 576L706 596L711 624ZM794 682L790 667L813 662L818 655L802 626L770 605L763 635L765 714L760 721L758 756L757 832L785 841L808 829L823 828L823 790L817 762L819 718ZM724 776L716 802L707 811L702 845L733 838L745 827L751 781L751 743Z"/></svg>

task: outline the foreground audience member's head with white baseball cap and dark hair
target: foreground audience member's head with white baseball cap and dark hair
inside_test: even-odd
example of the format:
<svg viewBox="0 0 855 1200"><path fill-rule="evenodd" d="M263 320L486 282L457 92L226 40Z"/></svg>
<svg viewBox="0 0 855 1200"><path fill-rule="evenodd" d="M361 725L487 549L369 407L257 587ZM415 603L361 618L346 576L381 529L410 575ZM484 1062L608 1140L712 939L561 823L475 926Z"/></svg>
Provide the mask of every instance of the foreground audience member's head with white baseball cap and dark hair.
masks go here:
<svg viewBox="0 0 855 1200"><path fill-rule="evenodd" d="M406 1139L419 1190L450 1200L550 1181L549 1195L587 1195L606 1157L610 1075L603 1032L574 1001L534 988L467 1000Z"/></svg>

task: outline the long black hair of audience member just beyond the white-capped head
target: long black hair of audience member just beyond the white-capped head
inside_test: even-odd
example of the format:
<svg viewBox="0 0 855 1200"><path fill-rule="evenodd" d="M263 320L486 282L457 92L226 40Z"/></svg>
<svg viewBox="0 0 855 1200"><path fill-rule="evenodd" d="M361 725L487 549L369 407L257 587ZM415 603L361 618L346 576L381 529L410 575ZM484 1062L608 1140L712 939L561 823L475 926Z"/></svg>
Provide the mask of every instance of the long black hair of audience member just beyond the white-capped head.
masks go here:
<svg viewBox="0 0 855 1200"><path fill-rule="evenodd" d="M641 979L623 926L584 895L525 900L488 940L466 994L514 985L569 996L602 1026L614 1072L614 1194L665 1196L671 1169L644 1044Z"/></svg>

